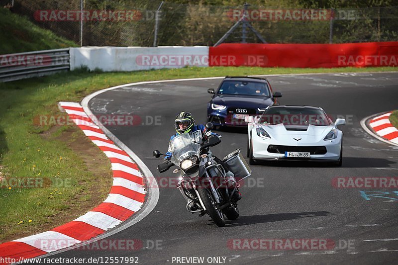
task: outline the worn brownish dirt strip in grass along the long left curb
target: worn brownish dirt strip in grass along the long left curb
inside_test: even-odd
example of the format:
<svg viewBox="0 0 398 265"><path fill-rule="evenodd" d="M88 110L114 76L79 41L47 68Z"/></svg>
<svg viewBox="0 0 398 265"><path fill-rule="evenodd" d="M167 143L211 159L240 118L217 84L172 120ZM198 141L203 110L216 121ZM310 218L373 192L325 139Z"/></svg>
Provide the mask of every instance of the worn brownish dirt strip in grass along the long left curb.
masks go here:
<svg viewBox="0 0 398 265"><path fill-rule="evenodd" d="M70 201L67 201L66 210L54 216L49 216L47 222L42 224L39 229L36 227L31 231L25 230L24 232L13 234L12 237L3 242L45 232L70 222L99 205L109 193L112 185L112 171L109 159L77 126L70 126L60 136L53 138L52 135L59 128L60 126L53 126L40 135L43 139L52 138L66 143L84 161L87 170L93 174L91 179L84 182L88 188L83 192L77 193ZM83 184L83 182L80 184Z"/></svg>

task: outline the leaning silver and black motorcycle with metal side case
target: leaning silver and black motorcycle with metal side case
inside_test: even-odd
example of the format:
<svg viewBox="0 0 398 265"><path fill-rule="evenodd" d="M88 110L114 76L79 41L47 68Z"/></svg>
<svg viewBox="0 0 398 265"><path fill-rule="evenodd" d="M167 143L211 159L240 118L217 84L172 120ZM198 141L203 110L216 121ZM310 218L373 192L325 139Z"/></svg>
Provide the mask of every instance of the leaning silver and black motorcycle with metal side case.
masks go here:
<svg viewBox="0 0 398 265"><path fill-rule="evenodd" d="M208 122L205 127L212 130L213 124ZM191 137L188 133L174 137L170 141L171 160L159 164L157 170L164 173L176 166L174 173L180 176L177 188L187 200L187 210L192 214L199 213L199 216L208 214L217 226L223 227L224 215L229 220L239 217L238 203L232 196L237 192L238 182L249 177L251 170L237 149L223 159L234 174L228 175L209 150L221 142L221 136L210 135L205 141L203 138ZM156 158L165 156L158 150L152 154Z"/></svg>

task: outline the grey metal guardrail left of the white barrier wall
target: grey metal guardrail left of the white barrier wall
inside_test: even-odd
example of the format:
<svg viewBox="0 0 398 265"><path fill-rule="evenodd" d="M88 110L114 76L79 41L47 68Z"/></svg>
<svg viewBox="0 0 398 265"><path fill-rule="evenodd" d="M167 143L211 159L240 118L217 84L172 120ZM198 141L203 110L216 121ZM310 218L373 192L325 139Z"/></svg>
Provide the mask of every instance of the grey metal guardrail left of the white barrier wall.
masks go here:
<svg viewBox="0 0 398 265"><path fill-rule="evenodd" d="M0 55L0 82L41 77L69 69L69 48Z"/></svg>

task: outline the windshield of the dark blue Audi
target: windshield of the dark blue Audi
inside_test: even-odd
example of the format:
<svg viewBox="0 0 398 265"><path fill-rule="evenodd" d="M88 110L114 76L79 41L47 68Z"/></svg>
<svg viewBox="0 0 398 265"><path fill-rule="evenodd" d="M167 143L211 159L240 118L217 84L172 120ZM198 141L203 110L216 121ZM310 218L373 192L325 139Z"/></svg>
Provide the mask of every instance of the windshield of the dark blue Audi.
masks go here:
<svg viewBox="0 0 398 265"><path fill-rule="evenodd" d="M224 81L218 90L218 94L270 97L270 91L266 83L248 81Z"/></svg>

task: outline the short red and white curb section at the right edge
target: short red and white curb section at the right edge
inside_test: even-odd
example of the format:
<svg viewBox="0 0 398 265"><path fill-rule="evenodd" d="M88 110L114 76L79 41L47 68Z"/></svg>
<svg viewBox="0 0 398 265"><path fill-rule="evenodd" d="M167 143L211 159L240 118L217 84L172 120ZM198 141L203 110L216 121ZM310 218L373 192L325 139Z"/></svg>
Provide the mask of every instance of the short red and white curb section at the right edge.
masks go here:
<svg viewBox="0 0 398 265"><path fill-rule="evenodd" d="M398 144L398 129L390 122L389 117L391 113L392 111L374 117L369 121L369 127L383 139Z"/></svg>

